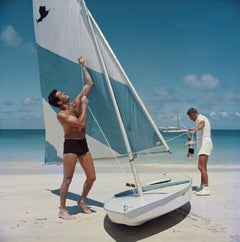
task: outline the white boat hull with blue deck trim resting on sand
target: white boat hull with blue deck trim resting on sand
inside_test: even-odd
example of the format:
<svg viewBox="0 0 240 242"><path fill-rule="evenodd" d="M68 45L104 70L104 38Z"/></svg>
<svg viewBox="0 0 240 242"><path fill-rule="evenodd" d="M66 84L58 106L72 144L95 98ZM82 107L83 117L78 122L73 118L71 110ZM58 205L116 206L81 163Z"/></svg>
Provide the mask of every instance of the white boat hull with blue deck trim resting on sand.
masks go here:
<svg viewBox="0 0 240 242"><path fill-rule="evenodd" d="M186 175L164 175L168 182L160 182L143 191L143 196L131 193L115 195L104 204L109 219L117 224L141 225L149 220L169 213L190 201L192 180ZM160 179L160 181L162 178ZM181 181L183 183L181 183ZM162 185L161 185L162 184ZM169 186L168 186L169 185ZM146 188L148 186L145 186ZM153 186L153 190L151 189ZM144 189L143 189L144 190Z"/></svg>

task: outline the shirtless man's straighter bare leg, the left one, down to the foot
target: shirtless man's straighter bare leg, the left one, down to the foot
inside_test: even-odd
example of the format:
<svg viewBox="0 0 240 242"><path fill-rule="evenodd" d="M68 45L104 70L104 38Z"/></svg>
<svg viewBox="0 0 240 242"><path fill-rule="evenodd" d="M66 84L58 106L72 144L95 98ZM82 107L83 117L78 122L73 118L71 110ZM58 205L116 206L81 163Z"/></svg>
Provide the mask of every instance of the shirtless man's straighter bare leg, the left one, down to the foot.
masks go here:
<svg viewBox="0 0 240 242"><path fill-rule="evenodd" d="M72 181L73 173L77 162L77 155L65 154L63 156L63 181L60 188L60 208L59 217L72 219L73 217L66 210L66 199L69 185Z"/></svg>

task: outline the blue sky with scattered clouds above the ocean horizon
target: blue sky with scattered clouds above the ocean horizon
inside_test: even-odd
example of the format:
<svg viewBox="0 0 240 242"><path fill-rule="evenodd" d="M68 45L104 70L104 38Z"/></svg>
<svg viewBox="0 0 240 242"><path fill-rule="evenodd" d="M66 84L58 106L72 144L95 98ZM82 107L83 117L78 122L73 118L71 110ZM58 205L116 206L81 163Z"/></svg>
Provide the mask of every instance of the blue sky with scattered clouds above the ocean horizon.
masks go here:
<svg viewBox="0 0 240 242"><path fill-rule="evenodd" d="M240 128L240 1L86 0L158 126ZM0 4L0 129L43 128L30 0Z"/></svg>

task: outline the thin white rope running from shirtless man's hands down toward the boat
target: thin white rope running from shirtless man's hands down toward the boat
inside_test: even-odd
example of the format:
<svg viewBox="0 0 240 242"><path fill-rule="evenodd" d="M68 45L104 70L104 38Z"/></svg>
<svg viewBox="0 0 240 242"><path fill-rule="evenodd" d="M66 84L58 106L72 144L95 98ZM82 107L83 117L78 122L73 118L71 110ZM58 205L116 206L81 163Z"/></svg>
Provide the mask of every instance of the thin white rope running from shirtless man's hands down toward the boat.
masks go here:
<svg viewBox="0 0 240 242"><path fill-rule="evenodd" d="M82 71L82 86L84 87L84 76L83 76L83 71ZM83 90L83 95L84 95L84 90ZM107 137L106 137L104 131L102 130L102 128L101 128L99 122L97 121L97 118L95 117L95 115L94 115L92 109L91 109L89 106L88 106L88 110L89 110L90 114L92 115L93 120L94 120L94 122L96 123L98 129L100 130L100 132L101 132L103 138L105 139L105 141L106 141L108 147L110 148L113 158L115 159L115 161L117 161L118 166L119 166L119 168L120 168L122 174L124 175L124 177L127 177L126 172L124 171L124 169L123 169L123 167L122 167L122 165L121 165L120 160L118 159L118 157L117 157L116 154L114 153L114 151L113 151L113 149L112 149L112 147L111 147L111 144L109 143L109 141L108 141L108 139L107 139ZM135 192L135 190L134 190L134 188L133 188L132 186L130 187L130 189L132 190L133 194L136 194L136 192Z"/></svg>

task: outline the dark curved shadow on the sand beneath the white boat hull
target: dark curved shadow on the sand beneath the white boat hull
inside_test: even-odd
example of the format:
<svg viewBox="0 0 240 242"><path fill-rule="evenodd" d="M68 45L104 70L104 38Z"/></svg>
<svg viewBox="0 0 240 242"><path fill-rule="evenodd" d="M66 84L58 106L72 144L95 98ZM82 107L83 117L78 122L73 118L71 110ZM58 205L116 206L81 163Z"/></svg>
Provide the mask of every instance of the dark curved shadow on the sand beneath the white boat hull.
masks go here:
<svg viewBox="0 0 240 242"><path fill-rule="evenodd" d="M159 234L183 221L191 211L190 202L182 207L151 220L143 225L130 227L127 225L114 224L106 215L104 219L105 231L114 241L132 242L139 241Z"/></svg>

